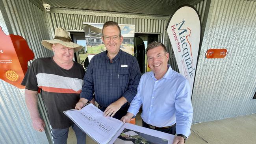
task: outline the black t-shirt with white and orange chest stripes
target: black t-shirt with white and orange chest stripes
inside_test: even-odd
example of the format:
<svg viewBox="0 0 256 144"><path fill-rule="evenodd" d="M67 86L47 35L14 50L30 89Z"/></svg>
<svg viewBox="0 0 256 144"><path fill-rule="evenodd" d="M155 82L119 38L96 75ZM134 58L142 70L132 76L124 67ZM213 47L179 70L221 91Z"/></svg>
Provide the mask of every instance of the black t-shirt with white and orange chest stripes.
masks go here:
<svg viewBox="0 0 256 144"><path fill-rule="evenodd" d="M52 57L39 58L30 65L21 85L28 90L41 89L52 128L64 129L73 123L63 111L75 108L80 99L84 74L83 66L76 62L66 70L58 66Z"/></svg>

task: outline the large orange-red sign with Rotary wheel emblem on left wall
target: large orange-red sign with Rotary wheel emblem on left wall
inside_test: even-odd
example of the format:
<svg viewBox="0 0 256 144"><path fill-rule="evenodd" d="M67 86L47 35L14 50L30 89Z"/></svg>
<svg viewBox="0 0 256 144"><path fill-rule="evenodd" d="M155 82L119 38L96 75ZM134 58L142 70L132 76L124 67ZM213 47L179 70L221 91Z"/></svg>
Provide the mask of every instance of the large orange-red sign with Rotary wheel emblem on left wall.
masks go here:
<svg viewBox="0 0 256 144"><path fill-rule="evenodd" d="M28 70L28 61L34 58L34 53L23 37L6 35L1 27L0 37L0 79L25 89L20 83Z"/></svg>

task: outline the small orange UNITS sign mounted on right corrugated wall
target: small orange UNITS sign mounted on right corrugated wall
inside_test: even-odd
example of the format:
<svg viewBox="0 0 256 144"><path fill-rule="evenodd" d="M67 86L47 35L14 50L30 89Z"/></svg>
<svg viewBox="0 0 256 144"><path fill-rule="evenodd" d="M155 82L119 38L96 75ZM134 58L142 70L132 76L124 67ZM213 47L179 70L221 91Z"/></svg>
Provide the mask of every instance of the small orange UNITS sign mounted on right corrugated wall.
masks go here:
<svg viewBox="0 0 256 144"><path fill-rule="evenodd" d="M209 49L205 53L208 59L224 58L228 54L227 49Z"/></svg>

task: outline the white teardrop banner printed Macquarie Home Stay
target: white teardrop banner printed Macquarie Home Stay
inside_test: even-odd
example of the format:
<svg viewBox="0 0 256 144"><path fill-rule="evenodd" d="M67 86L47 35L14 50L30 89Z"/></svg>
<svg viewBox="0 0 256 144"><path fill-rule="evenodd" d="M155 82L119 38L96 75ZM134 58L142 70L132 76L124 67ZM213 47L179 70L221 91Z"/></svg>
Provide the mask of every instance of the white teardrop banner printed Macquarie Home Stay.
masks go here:
<svg viewBox="0 0 256 144"><path fill-rule="evenodd" d="M200 17L195 7L179 7L171 16L166 30L180 74L188 79L192 94L201 34Z"/></svg>

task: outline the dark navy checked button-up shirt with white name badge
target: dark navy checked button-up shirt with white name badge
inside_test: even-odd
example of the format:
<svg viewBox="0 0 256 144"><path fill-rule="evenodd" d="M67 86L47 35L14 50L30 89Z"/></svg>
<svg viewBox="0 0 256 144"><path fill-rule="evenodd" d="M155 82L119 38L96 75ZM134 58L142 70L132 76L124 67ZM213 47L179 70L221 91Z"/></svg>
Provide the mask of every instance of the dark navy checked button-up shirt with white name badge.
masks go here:
<svg viewBox="0 0 256 144"><path fill-rule="evenodd" d="M131 102L137 94L140 77L134 56L119 50L110 63L105 51L91 59L80 97L92 100L95 92L95 101L102 107L108 107L122 96Z"/></svg>

